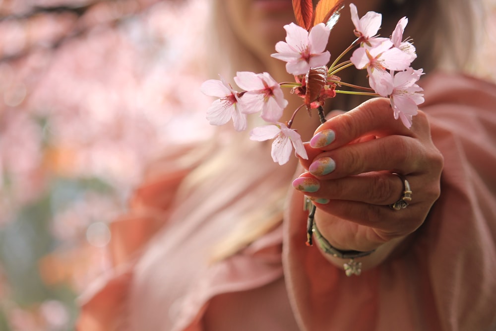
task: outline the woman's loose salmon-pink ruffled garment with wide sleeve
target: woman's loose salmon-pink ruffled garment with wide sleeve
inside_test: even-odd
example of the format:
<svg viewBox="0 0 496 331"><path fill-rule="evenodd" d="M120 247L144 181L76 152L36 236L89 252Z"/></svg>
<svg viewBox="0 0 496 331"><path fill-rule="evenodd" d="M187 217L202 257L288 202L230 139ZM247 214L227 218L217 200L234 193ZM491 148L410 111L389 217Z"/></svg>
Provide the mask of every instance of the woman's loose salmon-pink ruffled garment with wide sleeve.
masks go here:
<svg viewBox="0 0 496 331"><path fill-rule="evenodd" d="M446 74L422 83L445 168L440 199L401 252L347 277L305 246L295 163L246 144L236 171L173 198L210 152L176 150L114 223L116 269L81 297L77 330L496 330L496 86ZM210 248L274 187L289 192L282 225L210 263Z"/></svg>

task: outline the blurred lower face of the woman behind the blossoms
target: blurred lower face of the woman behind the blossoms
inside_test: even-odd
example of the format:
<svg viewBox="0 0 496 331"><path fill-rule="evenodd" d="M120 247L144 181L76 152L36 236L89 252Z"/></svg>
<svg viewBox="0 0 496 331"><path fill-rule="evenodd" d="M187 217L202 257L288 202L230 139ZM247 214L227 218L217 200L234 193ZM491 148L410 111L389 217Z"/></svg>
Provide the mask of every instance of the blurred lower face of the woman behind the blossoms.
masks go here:
<svg viewBox="0 0 496 331"><path fill-rule="evenodd" d="M275 44L286 37L283 26L295 21L292 0L220 1L234 34L248 50L259 56L266 57L274 53ZM345 0L341 19L330 35L331 54L341 53L355 38L350 19L350 2L357 5L359 16L363 16L367 11L377 9L382 0Z"/></svg>

